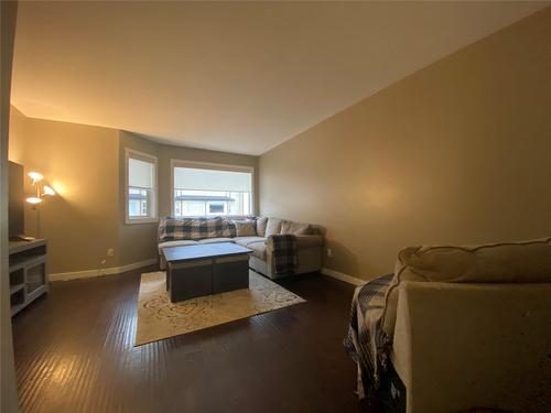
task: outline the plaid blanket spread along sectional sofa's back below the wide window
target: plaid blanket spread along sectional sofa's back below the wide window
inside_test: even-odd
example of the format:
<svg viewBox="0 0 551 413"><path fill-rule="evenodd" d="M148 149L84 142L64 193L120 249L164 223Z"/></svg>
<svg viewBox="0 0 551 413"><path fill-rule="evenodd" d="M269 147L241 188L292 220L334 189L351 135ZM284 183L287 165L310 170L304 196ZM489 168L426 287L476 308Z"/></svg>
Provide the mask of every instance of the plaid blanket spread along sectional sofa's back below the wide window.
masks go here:
<svg viewBox="0 0 551 413"><path fill-rule="evenodd" d="M163 217L159 222L159 240L199 240L205 238L235 237L236 225L223 217L173 218Z"/></svg>

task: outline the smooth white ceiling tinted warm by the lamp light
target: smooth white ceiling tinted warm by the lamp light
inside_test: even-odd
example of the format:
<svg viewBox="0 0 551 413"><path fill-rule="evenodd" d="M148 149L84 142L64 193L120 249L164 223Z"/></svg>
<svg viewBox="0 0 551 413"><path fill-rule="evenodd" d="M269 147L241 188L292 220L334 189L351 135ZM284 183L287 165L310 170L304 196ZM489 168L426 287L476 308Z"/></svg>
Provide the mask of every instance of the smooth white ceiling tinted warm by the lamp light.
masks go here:
<svg viewBox="0 0 551 413"><path fill-rule="evenodd" d="M261 154L547 2L22 2L29 117Z"/></svg>

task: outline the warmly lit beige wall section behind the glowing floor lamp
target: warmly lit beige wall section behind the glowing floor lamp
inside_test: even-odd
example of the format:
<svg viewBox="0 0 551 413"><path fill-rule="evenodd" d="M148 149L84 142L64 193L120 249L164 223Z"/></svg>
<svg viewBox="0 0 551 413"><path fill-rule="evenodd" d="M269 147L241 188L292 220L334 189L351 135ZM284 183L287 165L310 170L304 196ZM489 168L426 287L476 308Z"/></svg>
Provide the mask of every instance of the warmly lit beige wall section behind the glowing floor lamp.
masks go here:
<svg viewBox="0 0 551 413"><path fill-rule="evenodd" d="M117 267L107 249L118 244L118 131L25 118L14 107L11 119L10 161L58 193L37 209L25 205L25 232L48 241L50 272ZM34 193L29 178L25 193Z"/></svg>

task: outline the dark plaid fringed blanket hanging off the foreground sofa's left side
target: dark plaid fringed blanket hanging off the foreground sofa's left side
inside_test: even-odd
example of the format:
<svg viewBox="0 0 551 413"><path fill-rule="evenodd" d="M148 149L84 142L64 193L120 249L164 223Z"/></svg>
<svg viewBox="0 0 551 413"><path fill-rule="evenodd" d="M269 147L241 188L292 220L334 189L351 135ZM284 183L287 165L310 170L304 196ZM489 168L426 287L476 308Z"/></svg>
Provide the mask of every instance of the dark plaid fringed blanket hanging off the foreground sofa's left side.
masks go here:
<svg viewBox="0 0 551 413"><path fill-rule="evenodd" d="M375 392L381 384L381 374L388 367L391 338L383 334L381 318L385 311L385 292L392 275L371 280L354 292L350 325L344 346L358 366L360 399L375 399Z"/></svg>

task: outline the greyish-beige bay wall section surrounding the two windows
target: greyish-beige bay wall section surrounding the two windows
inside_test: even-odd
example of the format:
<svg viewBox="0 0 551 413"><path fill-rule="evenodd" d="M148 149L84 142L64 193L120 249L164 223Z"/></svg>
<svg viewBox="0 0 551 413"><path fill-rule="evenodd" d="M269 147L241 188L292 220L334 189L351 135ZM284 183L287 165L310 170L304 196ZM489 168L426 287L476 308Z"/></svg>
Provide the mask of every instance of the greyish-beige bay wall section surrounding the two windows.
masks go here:
<svg viewBox="0 0 551 413"><path fill-rule="evenodd" d="M159 216L171 214L171 160L252 166L255 169L258 166L257 156L156 143L125 131L120 132L119 142L119 196L121 199L125 199L125 149L129 148L158 157ZM257 183L255 186L258 188ZM256 202L258 205L258 196ZM120 203L119 251L121 265L156 257L156 224L126 224L125 205Z"/></svg>

